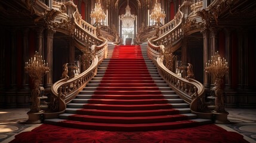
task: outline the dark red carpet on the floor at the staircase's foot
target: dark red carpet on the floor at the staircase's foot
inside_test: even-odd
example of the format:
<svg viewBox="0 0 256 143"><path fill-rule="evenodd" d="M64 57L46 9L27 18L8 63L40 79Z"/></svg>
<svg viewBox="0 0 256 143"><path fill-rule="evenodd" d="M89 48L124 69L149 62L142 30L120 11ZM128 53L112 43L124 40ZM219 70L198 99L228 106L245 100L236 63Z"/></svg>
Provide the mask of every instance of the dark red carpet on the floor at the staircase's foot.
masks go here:
<svg viewBox="0 0 256 143"><path fill-rule="evenodd" d="M11 143L246 143L243 136L227 132L216 125L202 125L195 128L157 130L148 132L110 132L62 128L54 125L41 125L31 132L16 135Z"/></svg>

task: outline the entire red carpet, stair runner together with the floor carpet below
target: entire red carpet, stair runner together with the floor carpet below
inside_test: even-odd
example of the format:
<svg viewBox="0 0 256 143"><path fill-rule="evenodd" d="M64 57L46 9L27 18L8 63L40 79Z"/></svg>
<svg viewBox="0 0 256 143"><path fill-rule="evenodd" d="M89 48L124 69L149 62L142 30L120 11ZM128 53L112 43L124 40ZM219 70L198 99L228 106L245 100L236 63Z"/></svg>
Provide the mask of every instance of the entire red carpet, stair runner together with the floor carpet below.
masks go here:
<svg viewBox="0 0 256 143"><path fill-rule="evenodd" d="M16 135L11 143L247 142L242 135L212 124L188 128L194 123L166 103L147 71L140 48L120 46L115 49L105 76L88 104L61 123L72 128L44 124L31 132ZM181 127L186 128L174 129Z"/></svg>

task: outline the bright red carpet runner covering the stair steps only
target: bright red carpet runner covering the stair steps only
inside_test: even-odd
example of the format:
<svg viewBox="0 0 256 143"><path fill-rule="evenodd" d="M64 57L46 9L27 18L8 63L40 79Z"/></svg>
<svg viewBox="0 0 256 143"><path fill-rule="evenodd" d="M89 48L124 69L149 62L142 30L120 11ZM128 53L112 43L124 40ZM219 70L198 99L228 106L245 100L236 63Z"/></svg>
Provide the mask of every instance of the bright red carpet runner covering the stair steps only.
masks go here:
<svg viewBox="0 0 256 143"><path fill-rule="evenodd" d="M187 128L197 124L168 104L152 80L140 46L116 46L97 91L83 109L60 125L140 131Z"/></svg>

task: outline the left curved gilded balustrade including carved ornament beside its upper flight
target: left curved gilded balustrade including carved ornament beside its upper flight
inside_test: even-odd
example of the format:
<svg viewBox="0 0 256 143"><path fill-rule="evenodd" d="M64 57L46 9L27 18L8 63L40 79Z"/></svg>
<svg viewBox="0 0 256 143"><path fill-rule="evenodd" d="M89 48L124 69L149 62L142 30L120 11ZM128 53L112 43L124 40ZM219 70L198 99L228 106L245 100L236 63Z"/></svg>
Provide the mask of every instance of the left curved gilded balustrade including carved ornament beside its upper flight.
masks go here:
<svg viewBox="0 0 256 143"><path fill-rule="evenodd" d="M73 36L74 45L77 48L81 51L90 48L91 54L94 55L91 59L91 66L83 73L72 79L61 79L54 83L51 88L49 111L43 115L45 119L48 119L63 113L66 104L75 98L79 91L97 74L98 64L107 55L107 39L96 36L96 27L82 20L78 8L72 1L54 1L53 9L48 8L41 1L36 1L33 8L39 7L38 5L44 7L45 10L41 18L51 22L48 28Z"/></svg>

